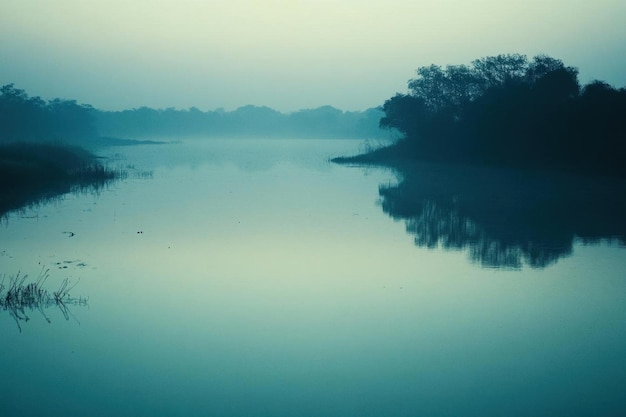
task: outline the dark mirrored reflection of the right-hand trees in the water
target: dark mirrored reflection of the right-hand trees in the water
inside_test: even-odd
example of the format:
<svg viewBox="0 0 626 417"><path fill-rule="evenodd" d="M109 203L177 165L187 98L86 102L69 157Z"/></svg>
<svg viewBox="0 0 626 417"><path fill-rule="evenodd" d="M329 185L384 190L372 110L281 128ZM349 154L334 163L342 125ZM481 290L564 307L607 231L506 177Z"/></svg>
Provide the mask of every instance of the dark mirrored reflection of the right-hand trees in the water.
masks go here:
<svg viewBox="0 0 626 417"><path fill-rule="evenodd" d="M421 247L468 250L485 267L543 268L573 243L626 243L626 181L417 164L381 185L383 211Z"/></svg>

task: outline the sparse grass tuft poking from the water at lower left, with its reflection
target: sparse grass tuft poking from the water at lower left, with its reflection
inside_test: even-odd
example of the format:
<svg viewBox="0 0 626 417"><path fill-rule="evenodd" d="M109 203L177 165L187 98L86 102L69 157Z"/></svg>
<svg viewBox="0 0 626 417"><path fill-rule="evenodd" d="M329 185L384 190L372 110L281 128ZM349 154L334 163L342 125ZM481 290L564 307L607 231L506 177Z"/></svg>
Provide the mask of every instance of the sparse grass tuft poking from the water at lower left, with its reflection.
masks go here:
<svg viewBox="0 0 626 417"><path fill-rule="evenodd" d="M39 277L29 283L27 283L28 275L20 275L20 273L8 279L6 276L0 278L0 310L9 313L15 320L20 333L22 332L21 323L30 320L28 313L31 311L38 311L48 323L51 323L46 309L57 307L65 320L70 318L76 320L70 307L87 305L86 298L74 298L70 295L70 291L77 282L72 283L66 278L61 282L58 290L50 292L44 288L48 277L48 270L42 270Z"/></svg>

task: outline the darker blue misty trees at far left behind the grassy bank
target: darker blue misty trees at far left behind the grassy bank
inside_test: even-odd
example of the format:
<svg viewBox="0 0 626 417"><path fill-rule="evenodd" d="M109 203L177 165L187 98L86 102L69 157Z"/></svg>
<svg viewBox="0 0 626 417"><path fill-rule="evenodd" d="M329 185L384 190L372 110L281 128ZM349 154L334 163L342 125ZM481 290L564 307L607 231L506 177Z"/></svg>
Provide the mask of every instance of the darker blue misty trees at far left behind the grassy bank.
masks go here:
<svg viewBox="0 0 626 417"><path fill-rule="evenodd" d="M95 109L90 105L29 97L14 84L0 87L0 143L78 142L97 134Z"/></svg>

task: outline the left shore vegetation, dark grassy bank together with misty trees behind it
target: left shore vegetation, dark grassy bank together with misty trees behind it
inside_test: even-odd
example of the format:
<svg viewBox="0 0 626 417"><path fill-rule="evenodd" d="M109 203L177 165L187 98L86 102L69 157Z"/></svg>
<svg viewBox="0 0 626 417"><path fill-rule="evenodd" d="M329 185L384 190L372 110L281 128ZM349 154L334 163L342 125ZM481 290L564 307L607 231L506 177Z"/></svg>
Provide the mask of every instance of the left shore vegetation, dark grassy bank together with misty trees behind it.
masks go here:
<svg viewBox="0 0 626 417"><path fill-rule="evenodd" d="M94 109L73 100L44 101L8 84L0 88L0 217L77 190L98 190L116 173L89 147Z"/></svg>

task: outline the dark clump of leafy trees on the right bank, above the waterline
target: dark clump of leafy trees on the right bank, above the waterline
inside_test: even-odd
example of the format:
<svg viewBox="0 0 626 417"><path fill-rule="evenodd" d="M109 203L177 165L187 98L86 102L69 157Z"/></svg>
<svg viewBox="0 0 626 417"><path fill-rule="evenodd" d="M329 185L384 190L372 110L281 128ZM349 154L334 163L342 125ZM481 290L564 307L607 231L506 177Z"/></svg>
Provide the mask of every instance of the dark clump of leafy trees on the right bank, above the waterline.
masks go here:
<svg viewBox="0 0 626 417"><path fill-rule="evenodd" d="M559 59L430 65L408 88L382 106L403 139L379 155L626 175L626 89L581 86Z"/></svg>

